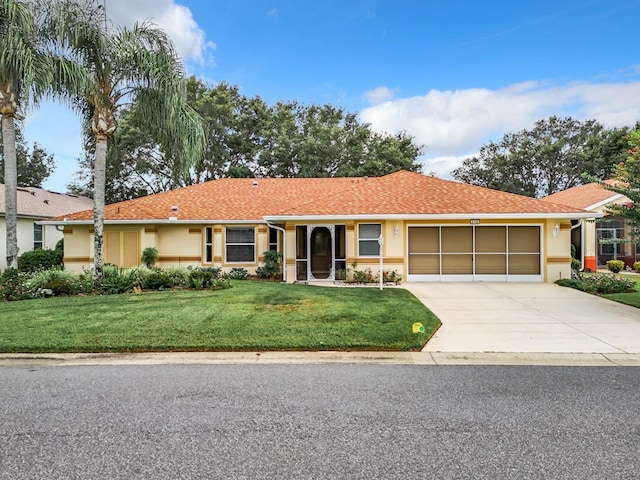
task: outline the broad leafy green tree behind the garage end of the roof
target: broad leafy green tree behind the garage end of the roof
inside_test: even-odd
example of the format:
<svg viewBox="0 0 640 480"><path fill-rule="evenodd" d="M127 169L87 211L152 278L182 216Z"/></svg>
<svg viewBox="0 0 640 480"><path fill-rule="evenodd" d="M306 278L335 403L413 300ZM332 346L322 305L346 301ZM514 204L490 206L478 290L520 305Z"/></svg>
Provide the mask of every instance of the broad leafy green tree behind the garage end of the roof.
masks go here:
<svg viewBox="0 0 640 480"><path fill-rule="evenodd" d="M507 133L452 172L456 180L529 197L546 196L584 182L583 174L606 178L619 161L628 129L606 130L595 120L549 117L532 130Z"/></svg>

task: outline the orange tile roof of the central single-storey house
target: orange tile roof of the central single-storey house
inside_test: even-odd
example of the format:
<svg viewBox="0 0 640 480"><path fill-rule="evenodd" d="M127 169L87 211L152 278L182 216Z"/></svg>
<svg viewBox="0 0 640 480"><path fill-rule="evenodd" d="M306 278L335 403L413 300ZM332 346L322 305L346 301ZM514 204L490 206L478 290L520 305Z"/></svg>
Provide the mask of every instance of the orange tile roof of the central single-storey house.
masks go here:
<svg viewBox="0 0 640 480"><path fill-rule="evenodd" d="M172 212L172 207L177 212ZM243 221L263 217L584 214L584 210L413 172L376 178L224 178L108 205L107 221ZM91 210L65 216L91 220ZM58 218L58 220L61 218Z"/></svg>

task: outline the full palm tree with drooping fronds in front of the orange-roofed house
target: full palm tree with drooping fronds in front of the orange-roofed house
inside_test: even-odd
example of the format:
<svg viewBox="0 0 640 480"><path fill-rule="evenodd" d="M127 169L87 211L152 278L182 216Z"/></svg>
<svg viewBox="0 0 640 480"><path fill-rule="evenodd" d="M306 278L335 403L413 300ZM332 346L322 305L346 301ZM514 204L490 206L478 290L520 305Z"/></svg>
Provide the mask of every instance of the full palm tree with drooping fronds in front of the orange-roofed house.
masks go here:
<svg viewBox="0 0 640 480"><path fill-rule="evenodd" d="M166 34L149 22L131 29L109 28L104 8L91 1L58 1L49 16L60 42L58 53L82 66L82 73L57 71L57 90L84 114L95 137L94 278L103 270L103 226L107 142L116 131L119 109L133 105L143 130L154 134L167 155L183 168L197 161L206 147L200 117L186 104L181 59ZM61 22L60 20L66 19Z"/></svg>

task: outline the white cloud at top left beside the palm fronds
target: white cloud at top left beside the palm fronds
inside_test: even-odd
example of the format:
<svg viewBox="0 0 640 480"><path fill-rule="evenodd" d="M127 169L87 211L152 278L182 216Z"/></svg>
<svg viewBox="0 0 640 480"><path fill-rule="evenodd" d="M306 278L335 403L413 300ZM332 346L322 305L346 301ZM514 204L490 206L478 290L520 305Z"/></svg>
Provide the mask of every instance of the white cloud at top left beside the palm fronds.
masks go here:
<svg viewBox="0 0 640 480"><path fill-rule="evenodd" d="M204 63L215 44L194 20L191 10L173 0L109 0L107 16L117 26L130 27L135 22L152 20L173 41L185 61Z"/></svg>

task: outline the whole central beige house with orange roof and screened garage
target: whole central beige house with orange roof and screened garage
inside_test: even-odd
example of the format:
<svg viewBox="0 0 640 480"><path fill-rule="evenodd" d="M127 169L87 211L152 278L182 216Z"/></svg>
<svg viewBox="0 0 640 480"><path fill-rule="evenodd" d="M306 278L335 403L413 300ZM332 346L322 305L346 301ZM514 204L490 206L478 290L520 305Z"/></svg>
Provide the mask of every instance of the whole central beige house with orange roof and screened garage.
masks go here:
<svg viewBox="0 0 640 480"><path fill-rule="evenodd" d="M104 261L243 267L284 254L286 282L379 269L406 281L553 282L571 275L571 221L582 209L406 171L377 178L223 178L108 205ZM62 226L65 266L93 262L90 210Z"/></svg>

